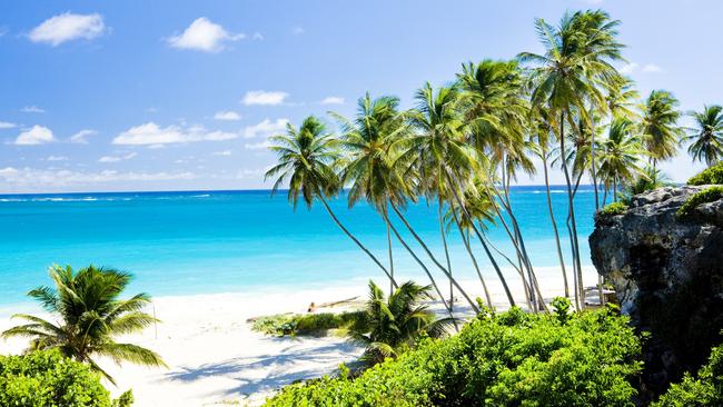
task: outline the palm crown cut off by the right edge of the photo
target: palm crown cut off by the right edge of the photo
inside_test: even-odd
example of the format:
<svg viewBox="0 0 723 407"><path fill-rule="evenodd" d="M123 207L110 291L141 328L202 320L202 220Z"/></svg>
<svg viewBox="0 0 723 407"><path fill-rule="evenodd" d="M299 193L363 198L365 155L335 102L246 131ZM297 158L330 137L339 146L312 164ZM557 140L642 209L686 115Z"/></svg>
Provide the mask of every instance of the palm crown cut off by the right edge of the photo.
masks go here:
<svg viewBox="0 0 723 407"><path fill-rule="evenodd" d="M687 152L693 160L705 160L705 165L712 167L723 158L723 107L703 106L703 111L690 115L696 128L685 138L692 141Z"/></svg>

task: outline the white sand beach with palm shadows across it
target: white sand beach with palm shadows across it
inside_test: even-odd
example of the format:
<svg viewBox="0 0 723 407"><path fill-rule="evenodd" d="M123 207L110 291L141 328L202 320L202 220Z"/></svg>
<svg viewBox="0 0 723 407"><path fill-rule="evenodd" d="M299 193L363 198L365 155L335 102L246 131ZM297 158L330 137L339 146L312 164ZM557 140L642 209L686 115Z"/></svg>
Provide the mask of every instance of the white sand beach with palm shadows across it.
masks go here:
<svg viewBox="0 0 723 407"><path fill-rule="evenodd" d="M552 270L548 270L552 271ZM594 270L585 270L585 284L596 282ZM557 275L559 272L557 271ZM508 276L511 274L507 274ZM541 289L549 299L562 294L561 279L552 272L539 274ZM506 308L502 285L489 279L493 300ZM419 281L422 282L422 281ZM440 286L447 287L447 282ZM522 299L522 288L513 290ZM572 285L572 280L571 280ZM473 296L481 296L479 281L463 286ZM444 288L447 292L448 288ZM113 395L132 388L136 406L208 406L238 404L258 405L276 389L299 379L333 374L340 363L355 360L361 349L343 338L275 338L250 330L250 317L305 312L309 302L317 305L359 296L366 297L366 286L329 287L297 292L217 294L204 296L159 297L149 312L162 320L141 335L121 338L156 350L169 368L145 368L126 364L116 366L102 360L107 371L116 378L117 388L108 384ZM458 296L457 309L469 315L469 307ZM442 305L433 305L442 312ZM338 310L333 308L331 310ZM321 309L324 311L327 309ZM9 309L0 309L8 314ZM37 308L23 309L40 315ZM17 324L0 317L0 329ZM20 353L26 343L20 339L0 340L0 354Z"/></svg>

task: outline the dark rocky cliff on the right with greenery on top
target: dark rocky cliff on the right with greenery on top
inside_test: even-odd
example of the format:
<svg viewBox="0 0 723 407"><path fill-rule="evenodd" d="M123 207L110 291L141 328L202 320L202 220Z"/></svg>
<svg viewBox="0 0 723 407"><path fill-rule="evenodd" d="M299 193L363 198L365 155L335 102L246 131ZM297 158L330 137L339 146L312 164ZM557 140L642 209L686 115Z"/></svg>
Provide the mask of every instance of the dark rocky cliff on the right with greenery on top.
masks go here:
<svg viewBox="0 0 723 407"><path fill-rule="evenodd" d="M630 209L597 216L593 264L617 291L644 343L644 389L657 394L701 366L723 329L723 199L677 209L701 187L660 188Z"/></svg>

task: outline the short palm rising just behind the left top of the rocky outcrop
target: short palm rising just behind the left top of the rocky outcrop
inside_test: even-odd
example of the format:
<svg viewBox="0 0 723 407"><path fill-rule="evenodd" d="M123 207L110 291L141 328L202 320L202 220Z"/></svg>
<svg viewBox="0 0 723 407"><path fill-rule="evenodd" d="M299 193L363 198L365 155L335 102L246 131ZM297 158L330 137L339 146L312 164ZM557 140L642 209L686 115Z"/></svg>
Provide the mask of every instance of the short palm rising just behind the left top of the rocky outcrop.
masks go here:
<svg viewBox="0 0 723 407"><path fill-rule="evenodd" d="M638 163L644 150L634 130L635 125L631 120L613 119L607 139L603 142L600 172L606 186L612 183L614 201L617 201L617 189L621 185L630 183L643 173Z"/></svg>

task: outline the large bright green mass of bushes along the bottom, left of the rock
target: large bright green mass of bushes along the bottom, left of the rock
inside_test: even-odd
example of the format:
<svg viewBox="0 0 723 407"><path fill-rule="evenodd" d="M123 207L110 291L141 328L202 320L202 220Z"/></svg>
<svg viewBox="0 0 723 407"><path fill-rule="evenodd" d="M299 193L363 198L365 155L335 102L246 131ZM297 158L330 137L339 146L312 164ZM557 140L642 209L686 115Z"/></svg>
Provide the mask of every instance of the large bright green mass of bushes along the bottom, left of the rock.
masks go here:
<svg viewBox="0 0 723 407"><path fill-rule="evenodd" d="M612 308L570 318L513 308L481 314L447 339L422 339L354 380L343 368L338 378L287 386L266 405L632 406L640 351Z"/></svg>

